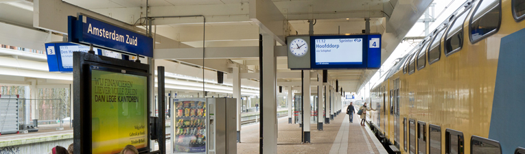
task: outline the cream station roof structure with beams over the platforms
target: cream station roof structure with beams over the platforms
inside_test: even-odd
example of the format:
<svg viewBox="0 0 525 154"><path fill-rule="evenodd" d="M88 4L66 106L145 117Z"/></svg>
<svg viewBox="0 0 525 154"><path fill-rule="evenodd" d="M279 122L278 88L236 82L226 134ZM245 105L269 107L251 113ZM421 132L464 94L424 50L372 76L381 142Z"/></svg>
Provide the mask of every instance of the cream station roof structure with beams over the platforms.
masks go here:
<svg viewBox="0 0 525 154"><path fill-rule="evenodd" d="M242 68L245 92L255 94L258 91L256 74L259 72L258 45L262 31L284 31L284 36L276 34L278 86L300 86L295 84L301 81L300 71L288 69L283 38L308 34L308 20L315 23L314 35L351 35L362 34L366 29L365 18L369 18L370 33L382 34L384 62L430 3L432 0L0 0L0 44L45 51L45 42L62 41L67 34L66 17L76 16L76 12L144 34L148 27L143 19L153 16L156 17L151 29L155 41L154 58L158 60L156 65L172 66L166 71L179 78L202 77L204 40L204 68L210 74L205 78L210 79L209 84L216 79L213 71L228 74L232 67L239 67ZM268 25L260 17L267 14L282 16L285 24ZM202 17L194 15L204 16L205 23ZM45 70L45 53L21 53L17 49L0 48L0 56L5 59L1 60L0 69L10 70L0 73L2 83L27 84L28 79L40 79L42 84L71 82L71 74ZM12 63L5 63L8 61ZM357 92L376 71L328 70L328 74L329 79L338 80L346 92ZM198 82L185 79L189 83L176 83L179 78L173 78L173 90L192 89L191 82ZM228 83L228 78L225 79ZM218 87L221 88L224 87ZM228 93L229 90L222 92Z"/></svg>

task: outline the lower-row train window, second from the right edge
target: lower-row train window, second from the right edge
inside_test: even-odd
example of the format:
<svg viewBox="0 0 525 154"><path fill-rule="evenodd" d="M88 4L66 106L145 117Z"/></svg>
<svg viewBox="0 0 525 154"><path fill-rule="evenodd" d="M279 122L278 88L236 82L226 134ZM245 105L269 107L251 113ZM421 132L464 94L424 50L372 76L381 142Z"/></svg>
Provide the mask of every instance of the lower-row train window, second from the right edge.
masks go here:
<svg viewBox="0 0 525 154"><path fill-rule="evenodd" d="M472 136L470 140L470 153L501 154L502 151L500 142L479 136Z"/></svg>

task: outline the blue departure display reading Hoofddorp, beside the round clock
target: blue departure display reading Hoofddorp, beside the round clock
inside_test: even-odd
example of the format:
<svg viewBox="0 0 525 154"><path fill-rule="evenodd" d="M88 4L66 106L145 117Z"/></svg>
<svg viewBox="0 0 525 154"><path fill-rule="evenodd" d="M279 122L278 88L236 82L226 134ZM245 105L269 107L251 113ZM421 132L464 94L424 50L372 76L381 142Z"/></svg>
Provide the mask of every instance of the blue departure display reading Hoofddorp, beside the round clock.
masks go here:
<svg viewBox="0 0 525 154"><path fill-rule="evenodd" d="M310 36L311 68L380 68L381 35Z"/></svg>

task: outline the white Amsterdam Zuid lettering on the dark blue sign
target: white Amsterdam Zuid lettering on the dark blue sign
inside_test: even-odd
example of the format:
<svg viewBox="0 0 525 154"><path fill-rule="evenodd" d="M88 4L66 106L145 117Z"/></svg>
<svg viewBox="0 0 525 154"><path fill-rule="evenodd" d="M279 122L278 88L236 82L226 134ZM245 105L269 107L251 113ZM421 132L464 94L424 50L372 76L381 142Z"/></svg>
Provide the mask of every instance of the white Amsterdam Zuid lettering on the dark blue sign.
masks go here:
<svg viewBox="0 0 525 154"><path fill-rule="evenodd" d="M102 38L107 38L107 39L110 39L110 40L115 40L115 41L118 41L118 42L123 42L123 43L126 43L126 44L137 46L137 40L138 40L137 37L131 36L131 38L130 38L130 36L127 35L127 34L126 34L126 37L124 37L124 35L117 34L117 32L115 30L108 31L105 28L100 29L100 28L97 28L97 27L92 27L91 23L89 24L87 33L88 34L93 34L95 36L100 36Z"/></svg>

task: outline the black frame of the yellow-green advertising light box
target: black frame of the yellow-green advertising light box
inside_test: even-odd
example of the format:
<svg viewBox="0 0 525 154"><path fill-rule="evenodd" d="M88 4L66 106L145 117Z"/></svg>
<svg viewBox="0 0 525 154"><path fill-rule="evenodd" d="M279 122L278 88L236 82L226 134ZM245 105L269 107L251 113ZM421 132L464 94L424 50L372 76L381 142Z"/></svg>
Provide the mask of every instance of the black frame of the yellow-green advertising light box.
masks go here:
<svg viewBox="0 0 525 154"><path fill-rule="evenodd" d="M93 55L91 53L74 52L73 53L73 145L74 153L92 153L92 101L91 101L91 70L102 70L113 73L130 74L147 77L147 90L145 90L147 97L145 118L147 123L145 125L145 140L146 146L139 149L139 152L149 151L150 146L150 66L148 64L141 64L138 62L131 62L127 60L118 60L112 57L104 57L102 55ZM118 125L118 124L108 124ZM104 130L101 130L104 131ZM123 149L124 146L118 147Z"/></svg>

